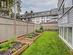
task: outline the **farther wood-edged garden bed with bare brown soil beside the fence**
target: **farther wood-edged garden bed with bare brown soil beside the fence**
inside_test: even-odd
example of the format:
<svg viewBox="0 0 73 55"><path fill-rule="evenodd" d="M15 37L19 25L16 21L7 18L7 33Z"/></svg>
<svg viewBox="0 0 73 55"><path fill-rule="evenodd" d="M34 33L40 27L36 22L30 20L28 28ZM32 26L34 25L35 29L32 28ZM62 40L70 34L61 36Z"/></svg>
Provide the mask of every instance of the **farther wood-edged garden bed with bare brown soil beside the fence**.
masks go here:
<svg viewBox="0 0 73 55"><path fill-rule="evenodd" d="M31 45L41 33L29 33L28 35L17 37L17 41L23 44Z"/></svg>

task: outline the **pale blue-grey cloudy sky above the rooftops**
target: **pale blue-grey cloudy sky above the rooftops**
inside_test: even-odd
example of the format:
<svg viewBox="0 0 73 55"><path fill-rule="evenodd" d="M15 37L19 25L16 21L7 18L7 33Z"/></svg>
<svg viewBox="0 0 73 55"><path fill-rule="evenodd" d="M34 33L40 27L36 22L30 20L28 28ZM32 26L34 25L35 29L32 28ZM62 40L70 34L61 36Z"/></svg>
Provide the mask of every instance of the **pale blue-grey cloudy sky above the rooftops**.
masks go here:
<svg viewBox="0 0 73 55"><path fill-rule="evenodd" d="M57 0L21 0L21 13L25 11L40 12L57 8Z"/></svg>

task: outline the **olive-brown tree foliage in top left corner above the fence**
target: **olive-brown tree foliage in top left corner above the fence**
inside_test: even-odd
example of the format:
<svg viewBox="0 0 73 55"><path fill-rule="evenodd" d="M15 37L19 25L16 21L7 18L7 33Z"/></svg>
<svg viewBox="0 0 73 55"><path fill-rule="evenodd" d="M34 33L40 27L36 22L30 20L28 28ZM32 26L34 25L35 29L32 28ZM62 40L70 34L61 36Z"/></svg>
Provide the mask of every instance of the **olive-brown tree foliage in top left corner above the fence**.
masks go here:
<svg viewBox="0 0 73 55"><path fill-rule="evenodd" d="M5 5L2 6L1 2L3 2ZM10 12L12 11L11 7L14 4L14 0L0 0L0 8L1 8L1 12L4 11L3 13L9 15ZM5 10L6 8L6 10Z"/></svg>

